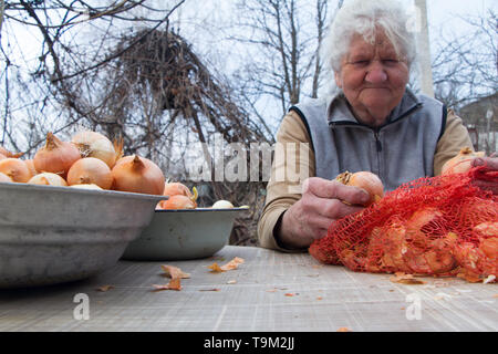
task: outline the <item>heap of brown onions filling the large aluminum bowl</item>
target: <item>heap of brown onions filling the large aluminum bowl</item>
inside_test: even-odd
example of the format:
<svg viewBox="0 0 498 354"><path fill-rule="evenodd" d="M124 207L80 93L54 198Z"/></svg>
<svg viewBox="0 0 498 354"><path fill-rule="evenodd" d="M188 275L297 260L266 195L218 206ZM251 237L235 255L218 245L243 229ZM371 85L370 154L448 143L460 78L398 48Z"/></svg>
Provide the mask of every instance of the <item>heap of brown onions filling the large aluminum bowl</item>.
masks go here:
<svg viewBox="0 0 498 354"><path fill-rule="evenodd" d="M100 133L80 132L71 143L48 133L33 159L22 160L21 155L0 147L0 181L151 195L165 191L165 176L156 164L136 155L122 157L123 140L113 144ZM188 188L178 188L178 194L195 202L197 191L193 197Z"/></svg>

